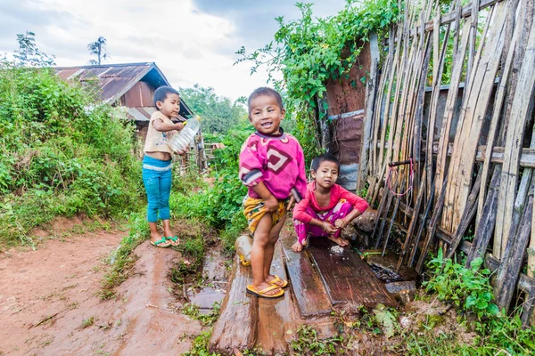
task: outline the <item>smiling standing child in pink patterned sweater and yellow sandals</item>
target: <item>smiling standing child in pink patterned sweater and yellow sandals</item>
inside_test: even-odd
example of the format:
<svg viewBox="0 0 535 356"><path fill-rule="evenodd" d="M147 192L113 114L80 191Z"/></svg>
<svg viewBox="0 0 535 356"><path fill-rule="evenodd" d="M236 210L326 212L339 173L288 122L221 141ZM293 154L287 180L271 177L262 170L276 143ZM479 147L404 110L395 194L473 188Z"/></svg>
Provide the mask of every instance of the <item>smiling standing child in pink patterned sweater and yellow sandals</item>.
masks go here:
<svg viewBox="0 0 535 356"><path fill-rule="evenodd" d="M249 187L243 214L253 233L252 284L247 293L264 298L284 295L288 281L269 273L275 243L293 201L299 202L307 188L303 150L299 142L280 127L285 110L281 95L261 87L248 101L249 121L256 128L243 143L240 180Z"/></svg>

